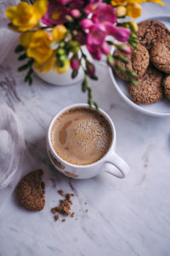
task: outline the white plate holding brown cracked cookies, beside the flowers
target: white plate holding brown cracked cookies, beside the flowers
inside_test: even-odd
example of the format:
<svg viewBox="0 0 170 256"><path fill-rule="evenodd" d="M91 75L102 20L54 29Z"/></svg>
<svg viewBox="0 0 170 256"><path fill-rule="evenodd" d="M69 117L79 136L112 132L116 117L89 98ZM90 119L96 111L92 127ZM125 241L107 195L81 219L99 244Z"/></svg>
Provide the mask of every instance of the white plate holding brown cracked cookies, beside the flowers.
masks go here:
<svg viewBox="0 0 170 256"><path fill-rule="evenodd" d="M136 110L153 116L170 116L170 17L154 16L139 22L139 50L117 65L137 75L138 86L110 67L111 80L122 99ZM112 49L113 55L122 55Z"/></svg>

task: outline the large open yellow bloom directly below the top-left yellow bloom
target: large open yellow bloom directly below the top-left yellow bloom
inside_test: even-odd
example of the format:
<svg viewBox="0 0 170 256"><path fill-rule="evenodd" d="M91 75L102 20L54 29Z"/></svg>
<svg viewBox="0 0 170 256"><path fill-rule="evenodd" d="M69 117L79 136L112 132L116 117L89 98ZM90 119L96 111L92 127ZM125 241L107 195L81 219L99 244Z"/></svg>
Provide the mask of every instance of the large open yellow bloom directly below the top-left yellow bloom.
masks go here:
<svg viewBox="0 0 170 256"><path fill-rule="evenodd" d="M27 33L25 40L28 39L28 42L21 38L25 42L25 45L28 45L26 54L34 58L38 63L43 63L48 60L48 58L53 55L53 49L50 48L50 44L53 42L53 37L43 30L37 30L33 32L31 37L28 37ZM29 42L31 40L31 42ZM23 44L22 44L23 45Z"/></svg>

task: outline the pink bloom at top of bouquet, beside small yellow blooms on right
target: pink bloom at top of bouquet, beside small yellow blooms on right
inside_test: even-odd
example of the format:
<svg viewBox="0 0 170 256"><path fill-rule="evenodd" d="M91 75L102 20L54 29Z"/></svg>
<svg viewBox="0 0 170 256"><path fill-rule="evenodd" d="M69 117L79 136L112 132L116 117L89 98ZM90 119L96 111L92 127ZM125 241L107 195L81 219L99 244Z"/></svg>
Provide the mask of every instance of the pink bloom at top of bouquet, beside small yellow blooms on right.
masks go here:
<svg viewBox="0 0 170 256"><path fill-rule="evenodd" d="M114 7L106 3L100 3L92 20L94 23L111 22L111 24L115 24L117 19Z"/></svg>

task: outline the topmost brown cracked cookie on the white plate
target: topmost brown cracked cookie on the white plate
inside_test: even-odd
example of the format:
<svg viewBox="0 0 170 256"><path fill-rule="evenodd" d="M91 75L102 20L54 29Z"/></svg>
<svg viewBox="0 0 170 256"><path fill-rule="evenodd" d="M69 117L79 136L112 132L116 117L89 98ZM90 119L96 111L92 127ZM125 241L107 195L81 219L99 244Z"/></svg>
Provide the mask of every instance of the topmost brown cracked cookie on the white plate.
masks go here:
<svg viewBox="0 0 170 256"><path fill-rule="evenodd" d="M163 23L158 20L145 20L139 23L137 32L140 44L150 51L157 41L170 41L170 32Z"/></svg>

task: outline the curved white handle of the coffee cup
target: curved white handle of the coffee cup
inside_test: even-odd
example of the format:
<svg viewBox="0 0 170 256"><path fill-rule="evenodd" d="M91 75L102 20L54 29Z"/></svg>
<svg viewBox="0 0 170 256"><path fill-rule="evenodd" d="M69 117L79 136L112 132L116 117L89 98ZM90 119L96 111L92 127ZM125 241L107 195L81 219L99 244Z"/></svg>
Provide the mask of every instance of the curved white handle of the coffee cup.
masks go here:
<svg viewBox="0 0 170 256"><path fill-rule="evenodd" d="M108 164L115 166L116 168L114 168L114 170L108 170L106 167L105 172L108 172L111 175L119 178L127 176L127 173L129 172L129 166L127 166L127 163L122 160L122 158L115 152L111 154L111 157L109 157L108 160L105 160L105 165Z"/></svg>

